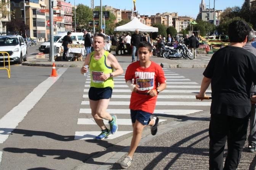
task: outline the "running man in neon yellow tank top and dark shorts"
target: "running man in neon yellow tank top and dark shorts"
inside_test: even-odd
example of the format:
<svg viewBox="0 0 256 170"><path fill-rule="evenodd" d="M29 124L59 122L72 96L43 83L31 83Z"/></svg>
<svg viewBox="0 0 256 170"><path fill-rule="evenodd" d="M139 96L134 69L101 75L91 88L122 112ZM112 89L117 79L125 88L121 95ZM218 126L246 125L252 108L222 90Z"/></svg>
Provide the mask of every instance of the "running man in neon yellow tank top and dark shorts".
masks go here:
<svg viewBox="0 0 256 170"><path fill-rule="evenodd" d="M87 54L85 63L81 68L84 74L90 68L91 84L88 92L91 114L96 124L101 128L101 133L95 140L102 140L117 132L117 116L111 116L106 110L114 88L113 77L123 74L123 69L115 56L104 50L106 36L95 33L93 37L94 51ZM115 69L115 71L113 71ZM106 127L103 119L109 121L110 129Z"/></svg>

